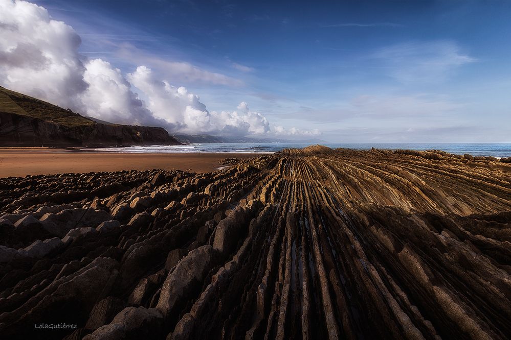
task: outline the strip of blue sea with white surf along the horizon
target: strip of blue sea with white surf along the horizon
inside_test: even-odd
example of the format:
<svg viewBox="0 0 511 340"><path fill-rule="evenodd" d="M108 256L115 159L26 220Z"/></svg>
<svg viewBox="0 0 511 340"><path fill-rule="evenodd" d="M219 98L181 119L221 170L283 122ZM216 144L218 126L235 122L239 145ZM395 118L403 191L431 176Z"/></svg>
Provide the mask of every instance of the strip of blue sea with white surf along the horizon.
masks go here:
<svg viewBox="0 0 511 340"><path fill-rule="evenodd" d="M187 145L137 145L122 148L99 148L97 151L126 153L274 153L285 148L304 148L307 143L197 143ZM510 157L511 143L323 143L329 148L370 150L442 150L452 154Z"/></svg>

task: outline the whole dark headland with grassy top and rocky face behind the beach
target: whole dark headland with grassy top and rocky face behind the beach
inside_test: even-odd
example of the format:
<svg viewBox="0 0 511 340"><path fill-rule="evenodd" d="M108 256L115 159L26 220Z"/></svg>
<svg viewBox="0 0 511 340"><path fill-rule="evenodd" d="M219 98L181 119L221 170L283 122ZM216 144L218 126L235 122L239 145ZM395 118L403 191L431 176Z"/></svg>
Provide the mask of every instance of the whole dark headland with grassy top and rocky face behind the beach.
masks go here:
<svg viewBox="0 0 511 340"><path fill-rule="evenodd" d="M107 147L180 144L163 128L97 123L0 87L0 146Z"/></svg>

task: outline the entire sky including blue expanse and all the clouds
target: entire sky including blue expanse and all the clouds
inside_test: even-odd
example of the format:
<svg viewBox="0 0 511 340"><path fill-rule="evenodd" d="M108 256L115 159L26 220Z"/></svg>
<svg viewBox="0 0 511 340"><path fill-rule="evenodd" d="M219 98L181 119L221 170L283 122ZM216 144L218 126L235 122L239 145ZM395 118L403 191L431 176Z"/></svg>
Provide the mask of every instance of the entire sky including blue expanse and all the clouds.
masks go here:
<svg viewBox="0 0 511 340"><path fill-rule="evenodd" d="M0 85L171 133L511 142L511 2L0 0Z"/></svg>

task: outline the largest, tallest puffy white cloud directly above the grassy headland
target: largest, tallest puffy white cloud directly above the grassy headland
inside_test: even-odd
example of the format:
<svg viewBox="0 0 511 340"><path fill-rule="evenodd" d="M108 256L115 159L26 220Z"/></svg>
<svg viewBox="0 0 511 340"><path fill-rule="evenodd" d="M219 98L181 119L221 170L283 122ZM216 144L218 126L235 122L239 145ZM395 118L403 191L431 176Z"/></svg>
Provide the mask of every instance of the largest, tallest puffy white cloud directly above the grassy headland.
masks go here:
<svg viewBox="0 0 511 340"><path fill-rule="evenodd" d="M48 11L24 1L0 0L0 82L64 107L82 108L87 84L80 37Z"/></svg>

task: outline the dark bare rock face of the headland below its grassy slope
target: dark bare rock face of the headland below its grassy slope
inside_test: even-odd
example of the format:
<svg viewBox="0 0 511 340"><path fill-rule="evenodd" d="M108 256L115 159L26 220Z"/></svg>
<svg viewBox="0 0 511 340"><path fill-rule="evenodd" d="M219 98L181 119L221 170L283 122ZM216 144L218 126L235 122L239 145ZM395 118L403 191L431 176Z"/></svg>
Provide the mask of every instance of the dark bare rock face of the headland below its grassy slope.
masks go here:
<svg viewBox="0 0 511 340"><path fill-rule="evenodd" d="M105 125L66 126L0 112L0 146L93 147L180 144L163 128Z"/></svg>

